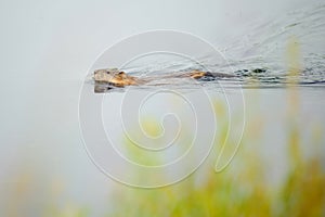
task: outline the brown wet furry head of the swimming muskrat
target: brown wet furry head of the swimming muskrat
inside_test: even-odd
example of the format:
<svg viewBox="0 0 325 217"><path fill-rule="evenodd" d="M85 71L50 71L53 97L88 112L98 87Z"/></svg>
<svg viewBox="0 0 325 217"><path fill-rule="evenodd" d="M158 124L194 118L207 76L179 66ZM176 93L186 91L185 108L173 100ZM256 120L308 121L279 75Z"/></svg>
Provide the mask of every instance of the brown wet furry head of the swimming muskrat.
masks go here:
<svg viewBox="0 0 325 217"><path fill-rule="evenodd" d="M134 77L129 76L117 68L96 69L93 77L96 82L106 82L116 87L135 84Z"/></svg>

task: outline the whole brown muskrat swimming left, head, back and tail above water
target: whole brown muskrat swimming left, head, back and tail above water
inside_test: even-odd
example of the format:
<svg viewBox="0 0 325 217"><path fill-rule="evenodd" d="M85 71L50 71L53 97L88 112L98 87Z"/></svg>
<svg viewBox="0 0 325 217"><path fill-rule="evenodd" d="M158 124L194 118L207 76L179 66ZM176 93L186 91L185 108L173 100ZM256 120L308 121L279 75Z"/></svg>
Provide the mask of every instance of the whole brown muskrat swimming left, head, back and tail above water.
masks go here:
<svg viewBox="0 0 325 217"><path fill-rule="evenodd" d="M198 69L191 71L188 73L180 73L179 75L162 75L155 77L134 77L126 74L125 72L119 71L118 68L104 68L96 69L93 75L93 79L98 85L109 85L114 87L125 87L125 86L139 86L144 85L156 79L166 79L166 78L230 78L235 77L233 75L223 74L223 73L210 73L203 72Z"/></svg>

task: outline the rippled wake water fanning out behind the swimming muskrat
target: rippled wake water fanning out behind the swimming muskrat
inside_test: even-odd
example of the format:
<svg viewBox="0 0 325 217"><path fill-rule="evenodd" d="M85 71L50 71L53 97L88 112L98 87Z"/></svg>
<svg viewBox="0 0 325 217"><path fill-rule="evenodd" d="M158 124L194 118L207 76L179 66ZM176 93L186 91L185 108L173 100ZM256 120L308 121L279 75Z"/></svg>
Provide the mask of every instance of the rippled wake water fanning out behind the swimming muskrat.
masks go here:
<svg viewBox="0 0 325 217"><path fill-rule="evenodd" d="M165 80L165 82L139 86L138 88L141 89L164 85L172 85L177 88L191 88L191 85L194 89L197 85L216 88L220 81L223 86L244 88L286 87L292 82L298 86L324 87L325 5L291 12L277 21L255 24L248 30L249 33L244 37L245 43L242 39L235 39L230 43L231 46L222 50L227 59L225 63L210 63L207 54L196 62L169 59L144 61L139 64L135 61L122 69L133 76L142 77L168 74L172 78L193 69L208 69L212 73L235 76L226 79L203 78L198 84L177 79ZM288 43L301 47L301 52L295 54L297 60L286 56L290 50ZM292 61L300 63L298 74L288 72ZM103 92L110 89L112 87L96 85L95 91Z"/></svg>

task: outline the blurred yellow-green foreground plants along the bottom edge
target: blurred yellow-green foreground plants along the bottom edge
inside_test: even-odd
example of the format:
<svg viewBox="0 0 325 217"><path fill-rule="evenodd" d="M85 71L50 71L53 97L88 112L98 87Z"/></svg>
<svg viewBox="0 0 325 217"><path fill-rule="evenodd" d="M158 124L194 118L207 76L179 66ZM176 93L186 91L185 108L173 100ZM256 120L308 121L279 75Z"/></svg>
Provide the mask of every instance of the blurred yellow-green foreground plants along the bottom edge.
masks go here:
<svg viewBox="0 0 325 217"><path fill-rule="evenodd" d="M292 93L295 94L295 92ZM291 95L295 99L295 95ZM253 98L251 98L253 99ZM278 171L284 171L281 181L273 183L270 173L270 164L261 154L261 135L262 126L266 124L263 117L249 119L246 125L245 136L242 145L232 163L222 171L216 173L216 154L218 144L226 138L227 125L226 122L226 105L224 102L216 101L214 111L221 123L221 128L218 131L216 149L212 150L210 157L205 164L199 167L192 176L176 184L158 188L158 189L136 189L118 184L114 192L109 192L107 199L107 207L94 205L78 205L61 204L39 204L42 206L38 210L38 215L47 217L87 217L93 216L93 213L100 208L104 209L104 216L125 217L125 216L325 216L325 171L324 159L317 146L324 145L317 136L311 138L309 142L312 154L306 156L301 150L302 141L300 128L295 120L297 103L290 102L288 107L288 126L286 131L286 142L283 150L287 163L284 165L287 168L278 168ZM251 111L255 113L255 111ZM222 120L222 117L224 119ZM155 120L151 119L146 123L146 127L153 130L152 135L156 135L159 129L155 126ZM323 130L323 129L322 129ZM321 130L321 131L322 131ZM184 141L185 142L185 141ZM232 142L232 140L230 140ZM125 145L132 145L125 142ZM227 144L232 148L232 144ZM219 146L220 149L220 146ZM225 153L233 150L226 150ZM136 150L129 149L130 155L138 155ZM323 155L324 156L324 155ZM155 163L155 158L141 155L142 163ZM135 157L136 158L136 157ZM276 158L272 163L276 163ZM282 164L277 164L282 165ZM271 165L272 167L273 165ZM136 176L136 173L134 173ZM43 191L40 193L39 186L43 182L38 176L38 182L24 181L24 184L17 184L13 195L6 196L10 204L6 208L6 216L35 216L35 213L24 213L28 202L36 196L44 199L51 193ZM28 176L27 176L28 178ZM136 178L136 177L135 177ZM145 177L144 177L145 178ZM159 177L161 178L161 177ZM164 177L162 177L164 178ZM22 177L20 178L22 180ZM22 182L21 182L22 183ZM27 187L26 187L27 184ZM28 184L31 189L27 195ZM41 190L49 189L47 187ZM54 191L57 188L54 188ZM82 191L82 189L80 189ZM105 191L105 190L104 190ZM25 193L24 193L25 192ZM54 192L54 193L55 193ZM108 192L108 190L107 190ZM55 200L60 201L60 193ZM44 200L49 201L49 200ZM56 204L56 205L55 205ZM60 204L60 203L58 203Z"/></svg>

